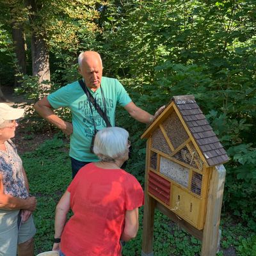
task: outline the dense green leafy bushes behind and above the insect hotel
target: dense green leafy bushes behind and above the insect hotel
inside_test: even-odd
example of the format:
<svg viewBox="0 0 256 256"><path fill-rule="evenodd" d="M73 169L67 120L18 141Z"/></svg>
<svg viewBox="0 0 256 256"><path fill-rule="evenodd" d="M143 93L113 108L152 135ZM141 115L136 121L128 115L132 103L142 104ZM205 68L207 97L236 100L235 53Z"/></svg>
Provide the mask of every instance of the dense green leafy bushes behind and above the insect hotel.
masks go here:
<svg viewBox="0 0 256 256"><path fill-rule="evenodd" d="M173 95L195 95L230 156L225 210L241 216L252 229L255 9L255 1L114 1L104 12L102 34L103 56L111 58L107 72L122 77L138 106L154 113ZM141 154L145 145L138 142L138 131L145 127L127 122L125 114L118 118ZM145 154L133 157L132 170L141 177Z"/></svg>

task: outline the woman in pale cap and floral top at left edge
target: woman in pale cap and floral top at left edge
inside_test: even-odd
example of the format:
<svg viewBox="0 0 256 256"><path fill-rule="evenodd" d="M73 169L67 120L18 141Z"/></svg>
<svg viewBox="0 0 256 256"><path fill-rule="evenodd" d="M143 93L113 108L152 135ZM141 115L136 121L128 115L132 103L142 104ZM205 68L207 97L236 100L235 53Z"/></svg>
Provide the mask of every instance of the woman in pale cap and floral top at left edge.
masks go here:
<svg viewBox="0 0 256 256"><path fill-rule="evenodd" d="M33 256L35 225L31 213L36 198L29 196L28 179L11 138L24 109L0 103L0 256Z"/></svg>

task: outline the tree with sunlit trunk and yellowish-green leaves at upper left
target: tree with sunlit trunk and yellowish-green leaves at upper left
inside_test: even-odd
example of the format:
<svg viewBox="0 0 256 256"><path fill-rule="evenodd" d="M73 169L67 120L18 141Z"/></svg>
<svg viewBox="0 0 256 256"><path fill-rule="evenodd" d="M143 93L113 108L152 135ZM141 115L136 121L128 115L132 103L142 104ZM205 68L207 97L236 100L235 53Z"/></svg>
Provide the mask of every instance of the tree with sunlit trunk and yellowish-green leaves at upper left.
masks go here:
<svg viewBox="0 0 256 256"><path fill-rule="evenodd" d="M10 29L12 25L14 28L15 40L13 42L17 49L16 56L20 56L19 66L22 67L17 73L22 70L26 75L19 92L30 92L30 98L41 97L40 95L49 92L51 57L52 70L56 71L54 77L58 77L58 82L65 83L77 77L75 68L77 56L80 51L90 49L90 45L91 47L95 45L95 38L99 33L94 22L94 19L99 17L96 3L97 1L92 0L54 2L3 0L1 2L3 6L1 11L3 14L6 13L3 15L4 20L12 20L11 22L5 21L4 25L6 29ZM25 49L23 31L27 45L31 48L31 68L28 70L31 70L32 76L29 73L26 74L26 65L24 65L26 60L23 58Z"/></svg>

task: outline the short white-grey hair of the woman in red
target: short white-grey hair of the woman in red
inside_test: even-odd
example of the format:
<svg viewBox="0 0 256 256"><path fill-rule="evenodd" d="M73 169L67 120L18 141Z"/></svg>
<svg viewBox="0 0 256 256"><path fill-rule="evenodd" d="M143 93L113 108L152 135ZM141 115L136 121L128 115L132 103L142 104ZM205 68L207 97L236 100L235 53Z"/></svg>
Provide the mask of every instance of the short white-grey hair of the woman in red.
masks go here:
<svg viewBox="0 0 256 256"><path fill-rule="evenodd" d="M108 127L97 132L93 152L103 161L122 159L127 154L129 133L120 127Z"/></svg>

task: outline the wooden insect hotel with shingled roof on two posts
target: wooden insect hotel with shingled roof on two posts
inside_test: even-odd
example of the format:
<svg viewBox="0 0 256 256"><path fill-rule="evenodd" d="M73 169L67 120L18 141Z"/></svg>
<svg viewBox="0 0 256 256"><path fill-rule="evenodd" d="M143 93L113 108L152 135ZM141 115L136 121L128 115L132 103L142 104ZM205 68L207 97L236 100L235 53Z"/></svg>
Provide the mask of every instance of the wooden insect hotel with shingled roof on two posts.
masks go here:
<svg viewBox="0 0 256 256"><path fill-rule="evenodd" d="M173 97L141 138L147 138L141 255L153 255L156 208L202 241L202 256L216 255L228 156L193 95Z"/></svg>

